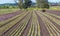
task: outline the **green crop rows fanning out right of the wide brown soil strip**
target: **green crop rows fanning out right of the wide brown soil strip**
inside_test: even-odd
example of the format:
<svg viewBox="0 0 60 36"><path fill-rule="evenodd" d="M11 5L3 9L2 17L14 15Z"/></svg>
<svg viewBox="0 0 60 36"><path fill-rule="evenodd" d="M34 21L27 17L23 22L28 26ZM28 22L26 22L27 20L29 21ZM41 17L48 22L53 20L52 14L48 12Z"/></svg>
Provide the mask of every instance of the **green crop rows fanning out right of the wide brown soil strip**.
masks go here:
<svg viewBox="0 0 60 36"><path fill-rule="evenodd" d="M46 14L43 12L38 12L38 14L40 15L41 19L45 23L45 26L46 26L50 36L60 36L60 28L58 27L58 26L60 26L60 20L55 18L57 16L55 16L54 14L48 15L48 13ZM55 17L52 17L52 16L55 16ZM59 17L60 16L58 16L57 18L59 18ZM52 22L54 22L54 23L52 23Z"/></svg>

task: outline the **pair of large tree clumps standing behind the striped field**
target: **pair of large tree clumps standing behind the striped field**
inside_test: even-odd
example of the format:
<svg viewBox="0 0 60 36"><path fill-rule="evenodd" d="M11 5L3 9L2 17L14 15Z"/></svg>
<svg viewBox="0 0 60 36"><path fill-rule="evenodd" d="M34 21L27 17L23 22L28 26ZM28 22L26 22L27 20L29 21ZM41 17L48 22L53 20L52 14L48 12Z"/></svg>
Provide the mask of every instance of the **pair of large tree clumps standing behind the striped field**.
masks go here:
<svg viewBox="0 0 60 36"><path fill-rule="evenodd" d="M49 8L48 0L36 0L38 8ZM32 1L31 0L18 0L18 6L20 9L24 8L27 9L31 7Z"/></svg>

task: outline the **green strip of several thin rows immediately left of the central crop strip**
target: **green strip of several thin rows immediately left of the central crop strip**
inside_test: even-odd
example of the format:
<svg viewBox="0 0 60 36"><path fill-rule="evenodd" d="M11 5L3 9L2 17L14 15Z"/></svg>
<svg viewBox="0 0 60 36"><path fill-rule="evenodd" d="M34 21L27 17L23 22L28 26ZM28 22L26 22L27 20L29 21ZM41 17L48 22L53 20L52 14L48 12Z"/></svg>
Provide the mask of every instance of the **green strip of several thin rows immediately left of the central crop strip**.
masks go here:
<svg viewBox="0 0 60 36"><path fill-rule="evenodd" d="M17 33L14 36L20 36L21 33L24 31L24 29L26 28L26 25L30 19L31 14L27 15L26 18L24 18L20 23L21 26L19 26L19 30L16 30Z"/></svg>

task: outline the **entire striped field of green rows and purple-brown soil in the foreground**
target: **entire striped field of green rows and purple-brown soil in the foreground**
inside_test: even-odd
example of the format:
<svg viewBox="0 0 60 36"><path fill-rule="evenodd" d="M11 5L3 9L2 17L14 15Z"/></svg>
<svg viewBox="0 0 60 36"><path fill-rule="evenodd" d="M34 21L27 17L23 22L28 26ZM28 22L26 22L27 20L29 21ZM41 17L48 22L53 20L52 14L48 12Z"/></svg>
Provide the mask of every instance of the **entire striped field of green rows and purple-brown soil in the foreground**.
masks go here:
<svg viewBox="0 0 60 36"><path fill-rule="evenodd" d="M0 36L60 36L60 11L19 10L1 15Z"/></svg>

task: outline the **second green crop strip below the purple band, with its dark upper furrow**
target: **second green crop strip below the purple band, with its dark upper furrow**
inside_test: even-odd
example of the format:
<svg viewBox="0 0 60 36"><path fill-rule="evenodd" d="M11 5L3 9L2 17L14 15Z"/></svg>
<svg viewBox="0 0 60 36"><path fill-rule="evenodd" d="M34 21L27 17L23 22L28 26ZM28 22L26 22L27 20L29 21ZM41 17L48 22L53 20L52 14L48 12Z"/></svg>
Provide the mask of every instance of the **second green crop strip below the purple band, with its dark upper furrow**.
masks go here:
<svg viewBox="0 0 60 36"><path fill-rule="evenodd" d="M24 12L24 13L22 13L22 14L19 14L19 15L17 15L17 16L15 16L15 17L13 17L13 18L11 18L11 19L9 19L9 20L6 20L6 21L4 21L5 23L3 23L2 25L4 25L4 26L1 26L1 30L0 30L0 34L1 33L4 33L6 30L8 30L8 29L10 29L13 25L16 25L16 23L18 23L21 19L23 19L23 17L24 16L26 16L27 15L27 13L28 12ZM15 19L16 18L16 19ZM14 20L12 20L12 19L14 19ZM12 20L12 21L11 21ZM10 21L10 22L9 22ZM9 23L8 23L9 22Z"/></svg>

